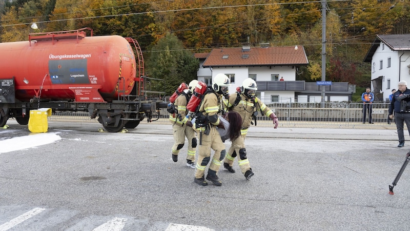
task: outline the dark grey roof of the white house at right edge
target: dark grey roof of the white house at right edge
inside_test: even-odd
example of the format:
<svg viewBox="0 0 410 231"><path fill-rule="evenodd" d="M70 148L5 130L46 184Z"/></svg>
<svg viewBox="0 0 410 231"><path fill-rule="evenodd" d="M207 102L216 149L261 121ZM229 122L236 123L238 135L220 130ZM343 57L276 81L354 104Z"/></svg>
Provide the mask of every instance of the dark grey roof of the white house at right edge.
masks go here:
<svg viewBox="0 0 410 231"><path fill-rule="evenodd" d="M375 41L367 51L363 62L372 62L372 57L376 52L376 49L380 46L380 42L383 42L388 48L393 51L410 50L410 34L384 34L376 35Z"/></svg>

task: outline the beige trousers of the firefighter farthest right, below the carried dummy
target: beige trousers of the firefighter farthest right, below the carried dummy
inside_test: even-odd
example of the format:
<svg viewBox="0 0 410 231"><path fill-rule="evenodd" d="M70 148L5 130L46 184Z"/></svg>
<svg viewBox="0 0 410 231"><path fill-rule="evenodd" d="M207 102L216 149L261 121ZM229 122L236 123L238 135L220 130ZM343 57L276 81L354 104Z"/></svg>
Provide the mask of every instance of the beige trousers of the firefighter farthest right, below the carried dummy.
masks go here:
<svg viewBox="0 0 410 231"><path fill-rule="evenodd" d="M238 164L242 174L251 169L251 164L249 163L246 149L245 149L245 137L246 134L242 134L237 139L231 141L231 147L228 150L227 156L225 157L224 163L229 164L232 167L235 157L238 157Z"/></svg>

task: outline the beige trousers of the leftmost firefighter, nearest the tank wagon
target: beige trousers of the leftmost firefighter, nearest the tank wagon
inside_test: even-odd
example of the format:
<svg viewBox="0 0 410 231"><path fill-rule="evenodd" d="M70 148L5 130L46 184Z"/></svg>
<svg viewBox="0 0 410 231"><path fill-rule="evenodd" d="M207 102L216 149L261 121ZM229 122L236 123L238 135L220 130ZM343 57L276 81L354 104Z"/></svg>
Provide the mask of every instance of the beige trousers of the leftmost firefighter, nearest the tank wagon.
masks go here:
<svg viewBox="0 0 410 231"><path fill-rule="evenodd" d="M188 139L188 154L187 160L195 162L195 151L196 151L196 133L192 127L188 126L178 126L174 124L172 126L172 131L174 134L174 145L172 146L172 155L178 155L179 150L185 144L185 137Z"/></svg>

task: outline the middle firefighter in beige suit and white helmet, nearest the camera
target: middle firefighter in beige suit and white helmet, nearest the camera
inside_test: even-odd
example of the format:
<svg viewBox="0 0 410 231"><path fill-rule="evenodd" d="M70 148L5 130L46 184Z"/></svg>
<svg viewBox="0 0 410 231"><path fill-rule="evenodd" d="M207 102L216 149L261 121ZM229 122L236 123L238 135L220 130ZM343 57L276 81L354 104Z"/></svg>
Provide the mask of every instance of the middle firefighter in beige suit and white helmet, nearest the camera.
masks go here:
<svg viewBox="0 0 410 231"><path fill-rule="evenodd" d="M193 125L199 133L198 160L194 182L202 186L208 185L203 177L209 162L211 164L206 179L216 186L222 185L217 172L225 157L225 145L216 127L223 126L218 112L222 109L221 97L228 94L229 86L231 86L231 81L227 75L220 73L215 76L211 86L212 90L204 95ZM212 159L211 149L215 151Z"/></svg>

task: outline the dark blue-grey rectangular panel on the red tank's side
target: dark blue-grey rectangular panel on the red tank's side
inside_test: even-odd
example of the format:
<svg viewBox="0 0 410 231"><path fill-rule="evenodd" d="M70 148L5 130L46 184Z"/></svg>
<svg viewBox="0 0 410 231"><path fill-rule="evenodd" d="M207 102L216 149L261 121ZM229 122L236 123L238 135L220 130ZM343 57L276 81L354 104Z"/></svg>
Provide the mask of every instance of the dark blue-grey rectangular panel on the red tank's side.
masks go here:
<svg viewBox="0 0 410 231"><path fill-rule="evenodd" d="M90 84L87 59L49 60L48 68L53 84Z"/></svg>

